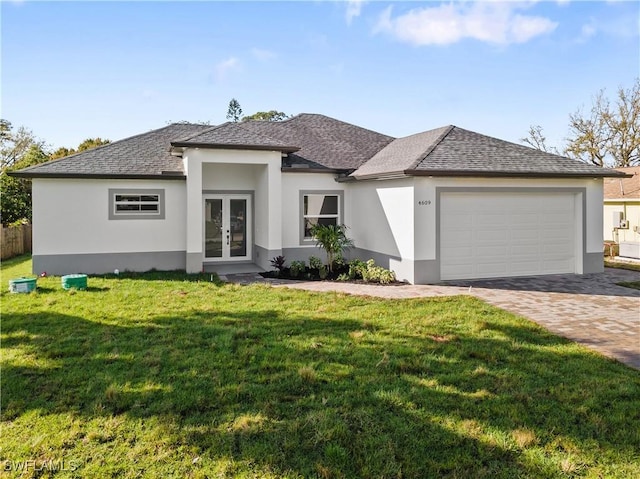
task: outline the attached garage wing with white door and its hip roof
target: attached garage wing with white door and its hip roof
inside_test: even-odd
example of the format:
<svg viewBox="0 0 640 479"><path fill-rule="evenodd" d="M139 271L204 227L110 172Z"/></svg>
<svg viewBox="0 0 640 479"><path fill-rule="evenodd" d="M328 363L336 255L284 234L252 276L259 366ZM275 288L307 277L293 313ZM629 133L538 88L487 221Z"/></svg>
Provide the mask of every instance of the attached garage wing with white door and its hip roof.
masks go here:
<svg viewBox="0 0 640 479"><path fill-rule="evenodd" d="M602 272L605 177L621 173L450 125L393 140L341 181L369 211L358 257L434 284Z"/></svg>

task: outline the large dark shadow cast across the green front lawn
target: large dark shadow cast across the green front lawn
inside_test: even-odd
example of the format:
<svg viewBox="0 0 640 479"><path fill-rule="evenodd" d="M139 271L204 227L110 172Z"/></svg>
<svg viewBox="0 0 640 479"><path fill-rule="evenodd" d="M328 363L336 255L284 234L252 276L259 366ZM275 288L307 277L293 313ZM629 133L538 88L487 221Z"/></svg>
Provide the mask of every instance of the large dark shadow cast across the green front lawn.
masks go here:
<svg viewBox="0 0 640 479"><path fill-rule="evenodd" d="M555 352L570 343L534 325L474 327L387 333L355 312L335 320L240 303L126 327L5 312L3 348L33 360L3 367L3 420L158 417L202 457L302 476L553 475L513 445L523 429L540 444L637 451L634 372L582 349Z"/></svg>

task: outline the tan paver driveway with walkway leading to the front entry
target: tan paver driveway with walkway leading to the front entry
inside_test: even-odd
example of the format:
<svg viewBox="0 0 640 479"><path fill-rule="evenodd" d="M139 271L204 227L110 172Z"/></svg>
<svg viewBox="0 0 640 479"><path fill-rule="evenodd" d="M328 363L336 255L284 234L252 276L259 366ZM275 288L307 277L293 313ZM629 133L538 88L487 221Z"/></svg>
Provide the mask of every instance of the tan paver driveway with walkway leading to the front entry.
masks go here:
<svg viewBox="0 0 640 479"><path fill-rule="evenodd" d="M264 281L255 275L228 275L227 279L245 283ZM598 274L459 281L433 286L272 282L289 288L384 298L472 294L640 369L640 291L616 285L622 281L640 281L640 272L606 268Z"/></svg>

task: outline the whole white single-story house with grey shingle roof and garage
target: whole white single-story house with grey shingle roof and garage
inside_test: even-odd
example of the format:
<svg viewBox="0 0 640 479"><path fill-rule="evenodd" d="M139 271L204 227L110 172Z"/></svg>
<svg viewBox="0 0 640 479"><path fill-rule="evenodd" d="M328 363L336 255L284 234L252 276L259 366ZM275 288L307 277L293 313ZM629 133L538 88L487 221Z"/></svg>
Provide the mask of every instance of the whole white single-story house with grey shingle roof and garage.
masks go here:
<svg viewBox="0 0 640 479"><path fill-rule="evenodd" d="M172 124L26 168L35 273L104 273L322 256L411 283L603 270L603 178L624 173L444 126L404 138L327 116Z"/></svg>

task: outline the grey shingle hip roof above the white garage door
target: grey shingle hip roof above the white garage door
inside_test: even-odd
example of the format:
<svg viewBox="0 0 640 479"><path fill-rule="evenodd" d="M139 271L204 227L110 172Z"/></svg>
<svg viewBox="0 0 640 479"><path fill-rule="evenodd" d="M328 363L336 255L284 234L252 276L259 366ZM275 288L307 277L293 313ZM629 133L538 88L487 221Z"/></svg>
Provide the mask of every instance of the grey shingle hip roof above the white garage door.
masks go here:
<svg viewBox="0 0 640 479"><path fill-rule="evenodd" d="M399 138L351 174L356 179L428 176L621 176L612 169L553 155L457 126Z"/></svg>

